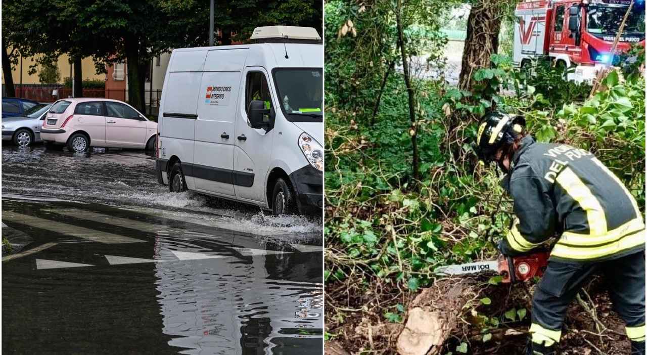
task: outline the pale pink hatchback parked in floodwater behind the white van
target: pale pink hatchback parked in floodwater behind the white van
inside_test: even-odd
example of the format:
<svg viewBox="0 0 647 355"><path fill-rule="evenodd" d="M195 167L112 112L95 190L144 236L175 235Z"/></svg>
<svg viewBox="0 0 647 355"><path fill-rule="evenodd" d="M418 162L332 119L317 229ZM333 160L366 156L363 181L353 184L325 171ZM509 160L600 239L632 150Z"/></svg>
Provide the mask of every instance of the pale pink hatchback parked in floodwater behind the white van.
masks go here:
<svg viewBox="0 0 647 355"><path fill-rule="evenodd" d="M43 126L46 149L86 152L106 148L157 147L157 123L132 106L109 98L65 98L54 102Z"/></svg>

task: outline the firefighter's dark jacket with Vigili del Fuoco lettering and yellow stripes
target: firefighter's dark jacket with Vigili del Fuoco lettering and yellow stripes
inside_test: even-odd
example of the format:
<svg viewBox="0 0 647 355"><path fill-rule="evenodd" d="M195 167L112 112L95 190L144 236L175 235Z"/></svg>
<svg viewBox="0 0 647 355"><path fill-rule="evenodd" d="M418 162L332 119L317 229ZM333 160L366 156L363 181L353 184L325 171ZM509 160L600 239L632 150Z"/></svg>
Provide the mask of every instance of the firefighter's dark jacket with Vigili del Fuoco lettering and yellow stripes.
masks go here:
<svg viewBox="0 0 647 355"><path fill-rule="evenodd" d="M553 236L558 236L554 260L611 260L644 250L644 222L635 199L586 150L535 143L527 135L502 185L517 217L504 253L525 253Z"/></svg>

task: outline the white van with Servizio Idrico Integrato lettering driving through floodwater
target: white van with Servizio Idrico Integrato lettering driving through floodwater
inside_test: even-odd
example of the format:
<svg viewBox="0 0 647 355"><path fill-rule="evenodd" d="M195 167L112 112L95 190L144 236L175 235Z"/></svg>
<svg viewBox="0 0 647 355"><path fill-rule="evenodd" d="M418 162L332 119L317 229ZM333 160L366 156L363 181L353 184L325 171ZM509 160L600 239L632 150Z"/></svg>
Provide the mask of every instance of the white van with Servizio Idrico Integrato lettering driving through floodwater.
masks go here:
<svg viewBox="0 0 647 355"><path fill-rule="evenodd" d="M272 210L321 214L323 45L254 30L249 45L175 49L160 102L157 180Z"/></svg>

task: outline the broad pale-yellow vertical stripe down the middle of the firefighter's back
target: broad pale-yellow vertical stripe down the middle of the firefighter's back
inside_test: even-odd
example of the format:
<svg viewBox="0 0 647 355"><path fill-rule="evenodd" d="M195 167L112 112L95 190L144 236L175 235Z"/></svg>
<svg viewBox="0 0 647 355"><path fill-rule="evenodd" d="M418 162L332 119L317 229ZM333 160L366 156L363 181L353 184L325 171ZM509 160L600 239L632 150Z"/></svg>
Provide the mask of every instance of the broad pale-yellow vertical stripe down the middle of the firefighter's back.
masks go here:
<svg viewBox="0 0 647 355"><path fill-rule="evenodd" d="M560 172L555 181L586 211L590 234L606 234L607 225L604 210L598 199L593 196L591 190L584 185L580 177L576 176L573 170L567 166Z"/></svg>

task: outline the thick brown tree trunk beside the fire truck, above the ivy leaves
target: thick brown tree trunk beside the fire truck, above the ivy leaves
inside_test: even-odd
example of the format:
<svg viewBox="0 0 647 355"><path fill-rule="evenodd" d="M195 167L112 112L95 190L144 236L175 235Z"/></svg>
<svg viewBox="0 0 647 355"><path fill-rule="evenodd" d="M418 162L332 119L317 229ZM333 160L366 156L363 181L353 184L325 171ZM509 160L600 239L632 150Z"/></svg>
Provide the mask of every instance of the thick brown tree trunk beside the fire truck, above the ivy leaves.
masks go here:
<svg viewBox="0 0 647 355"><path fill-rule="evenodd" d="M472 91L472 75L478 69L490 67L490 56L499 47L504 5L505 1L501 0L479 0L472 6L467 18L467 37L459 78L461 90Z"/></svg>

